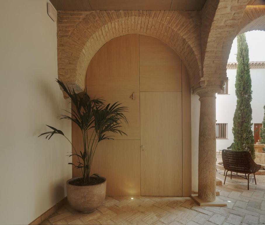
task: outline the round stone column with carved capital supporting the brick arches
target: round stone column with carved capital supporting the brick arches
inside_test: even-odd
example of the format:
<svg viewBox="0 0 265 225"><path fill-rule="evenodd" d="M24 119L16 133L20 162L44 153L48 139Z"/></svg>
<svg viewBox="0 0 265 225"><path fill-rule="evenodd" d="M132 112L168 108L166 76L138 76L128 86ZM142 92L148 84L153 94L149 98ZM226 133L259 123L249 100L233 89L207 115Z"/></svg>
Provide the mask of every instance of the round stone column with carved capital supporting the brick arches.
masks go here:
<svg viewBox="0 0 265 225"><path fill-rule="evenodd" d="M216 114L215 94L219 87L198 88L200 96L198 198L214 202L216 197Z"/></svg>

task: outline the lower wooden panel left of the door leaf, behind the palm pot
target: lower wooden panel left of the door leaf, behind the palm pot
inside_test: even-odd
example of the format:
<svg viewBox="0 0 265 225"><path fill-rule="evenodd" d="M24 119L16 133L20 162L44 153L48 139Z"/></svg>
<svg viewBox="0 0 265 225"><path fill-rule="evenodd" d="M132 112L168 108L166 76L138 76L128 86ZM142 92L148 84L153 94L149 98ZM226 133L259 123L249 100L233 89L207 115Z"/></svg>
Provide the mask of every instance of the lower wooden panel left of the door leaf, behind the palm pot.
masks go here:
<svg viewBox="0 0 265 225"><path fill-rule="evenodd" d="M106 140L98 144L91 174L107 179L108 196L141 195L140 140Z"/></svg>

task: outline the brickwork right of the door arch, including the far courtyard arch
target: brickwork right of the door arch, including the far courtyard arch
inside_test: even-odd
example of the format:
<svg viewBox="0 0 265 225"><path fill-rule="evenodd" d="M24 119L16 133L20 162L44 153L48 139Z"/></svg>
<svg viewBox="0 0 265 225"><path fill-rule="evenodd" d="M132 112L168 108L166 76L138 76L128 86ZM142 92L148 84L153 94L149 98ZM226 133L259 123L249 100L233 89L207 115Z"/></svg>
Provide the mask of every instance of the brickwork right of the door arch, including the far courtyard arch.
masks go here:
<svg viewBox="0 0 265 225"><path fill-rule="evenodd" d="M212 1L211 8L214 8L214 2L218 5L212 17L209 35L207 40L204 40L206 47L205 52L202 53L204 58L201 81L222 86L223 81L227 79L226 65L233 40L239 33L265 30L265 6L247 6L246 0L229 3L226 0L220 0ZM200 83L197 86L200 86Z"/></svg>

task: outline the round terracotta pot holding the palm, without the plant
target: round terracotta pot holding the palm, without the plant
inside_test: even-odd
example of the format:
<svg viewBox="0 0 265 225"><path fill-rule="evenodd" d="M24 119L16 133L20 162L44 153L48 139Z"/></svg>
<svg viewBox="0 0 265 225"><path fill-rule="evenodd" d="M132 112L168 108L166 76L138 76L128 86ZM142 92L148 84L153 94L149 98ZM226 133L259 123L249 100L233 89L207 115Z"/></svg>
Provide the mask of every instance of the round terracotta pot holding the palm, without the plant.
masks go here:
<svg viewBox="0 0 265 225"><path fill-rule="evenodd" d="M102 205L106 197L106 178L103 183L91 186L75 186L69 184L70 181L77 178L72 178L66 182L67 200L72 208L82 212L90 213L95 211Z"/></svg>

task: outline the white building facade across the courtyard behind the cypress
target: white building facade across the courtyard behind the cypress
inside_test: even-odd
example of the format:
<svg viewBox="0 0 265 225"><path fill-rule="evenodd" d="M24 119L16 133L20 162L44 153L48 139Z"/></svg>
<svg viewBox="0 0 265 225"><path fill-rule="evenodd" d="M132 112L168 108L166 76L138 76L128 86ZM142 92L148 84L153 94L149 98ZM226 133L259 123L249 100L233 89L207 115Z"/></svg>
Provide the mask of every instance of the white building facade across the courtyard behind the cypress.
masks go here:
<svg viewBox="0 0 265 225"><path fill-rule="evenodd" d="M223 94L216 94L216 151L227 149L233 143L233 116L236 107L235 76L236 63L227 65L227 88ZM250 62L252 80L252 131L258 130L254 124L261 124L265 105L265 62ZM257 135L257 134L256 134ZM257 139L257 138L256 138Z"/></svg>

